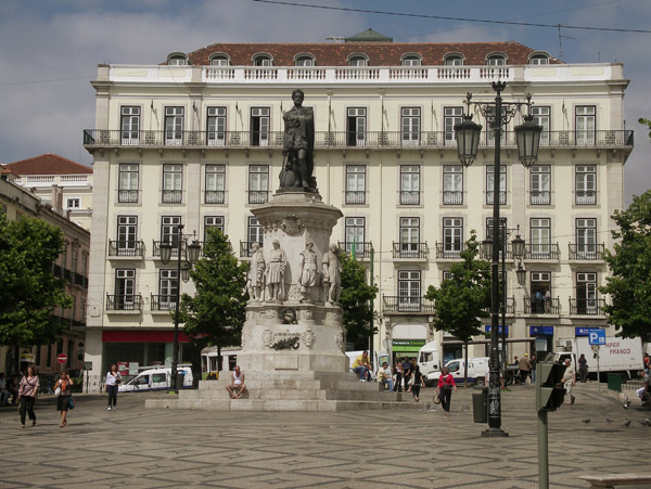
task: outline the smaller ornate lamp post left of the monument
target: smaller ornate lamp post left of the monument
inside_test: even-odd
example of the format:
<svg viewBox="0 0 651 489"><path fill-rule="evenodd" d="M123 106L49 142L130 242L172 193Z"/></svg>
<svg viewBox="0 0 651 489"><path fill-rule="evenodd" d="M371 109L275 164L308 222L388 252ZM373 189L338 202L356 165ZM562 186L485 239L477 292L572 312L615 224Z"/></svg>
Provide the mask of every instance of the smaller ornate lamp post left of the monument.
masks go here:
<svg viewBox="0 0 651 489"><path fill-rule="evenodd" d="M192 236L192 243L189 243L189 237ZM201 244L196 241L195 235L186 235L183 234L183 224L179 224L177 228L177 287L176 287L176 303L175 303L175 313L174 313L174 349L173 349L173 358L171 358L171 391L175 394L179 393L179 388L177 385L177 366L179 361L179 303L181 301L181 284L180 279L181 274L183 278L183 282L188 282L190 279L190 269L192 265L196 263L199 260L199 255L201 253ZM161 261L163 265L169 263L171 260L171 252L174 249L173 243L161 243ZM181 253L183 250L183 244L186 245L186 259L187 262L184 267L181 267Z"/></svg>

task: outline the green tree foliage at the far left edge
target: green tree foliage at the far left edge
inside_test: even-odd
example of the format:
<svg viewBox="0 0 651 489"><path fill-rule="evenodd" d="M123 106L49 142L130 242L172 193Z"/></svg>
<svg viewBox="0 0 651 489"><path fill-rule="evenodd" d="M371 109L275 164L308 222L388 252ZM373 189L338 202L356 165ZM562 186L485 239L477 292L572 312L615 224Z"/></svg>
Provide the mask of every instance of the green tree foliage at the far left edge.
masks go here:
<svg viewBox="0 0 651 489"><path fill-rule="evenodd" d="M52 316L73 304L52 274L63 244L59 228L31 217L8 221L0 213L0 345L50 344L65 331Z"/></svg>

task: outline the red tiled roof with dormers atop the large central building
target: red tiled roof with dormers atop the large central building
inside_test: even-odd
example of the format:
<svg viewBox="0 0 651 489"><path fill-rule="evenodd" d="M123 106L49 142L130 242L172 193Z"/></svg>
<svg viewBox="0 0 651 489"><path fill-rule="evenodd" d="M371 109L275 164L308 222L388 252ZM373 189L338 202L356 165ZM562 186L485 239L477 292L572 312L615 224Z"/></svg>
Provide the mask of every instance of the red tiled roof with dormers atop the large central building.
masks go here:
<svg viewBox="0 0 651 489"><path fill-rule="evenodd" d="M294 56L310 53L317 66L346 66L348 55L363 53L368 55L369 66L398 66L400 57L406 53L418 53L424 66L443 64L447 53L461 53L464 65L484 65L486 56L493 52L503 52L509 65L526 64L531 53L537 50L515 41L507 42L346 42L346 43L283 43L283 44L226 44L206 46L188 54L193 65L208 65L209 55L226 53L231 65L252 65L252 56L256 53L269 53L273 56L275 66L294 66ZM551 57L550 63L561 61Z"/></svg>

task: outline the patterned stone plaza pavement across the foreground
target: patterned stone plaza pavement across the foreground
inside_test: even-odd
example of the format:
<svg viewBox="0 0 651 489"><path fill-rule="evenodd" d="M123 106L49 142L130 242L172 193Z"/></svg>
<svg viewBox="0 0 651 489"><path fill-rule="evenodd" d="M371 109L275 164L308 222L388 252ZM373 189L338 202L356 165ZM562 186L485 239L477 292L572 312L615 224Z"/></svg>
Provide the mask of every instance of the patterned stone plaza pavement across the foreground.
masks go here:
<svg viewBox="0 0 651 489"><path fill-rule="evenodd" d="M434 389L424 389L430 400ZM451 412L218 412L144 409L164 393L78 395L59 427L54 398L37 401L37 426L20 428L0 408L0 487L49 488L535 488L535 388L503 393L508 438L482 438L473 389L452 395ZM651 415L628 411L597 384L577 384L576 403L549 414L553 488L588 487L580 475L650 473ZM624 420L631 421L629 427ZM590 420L584 423L583 420ZM607 420L612 420L608 422Z"/></svg>

